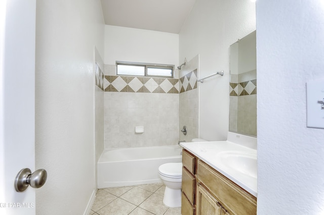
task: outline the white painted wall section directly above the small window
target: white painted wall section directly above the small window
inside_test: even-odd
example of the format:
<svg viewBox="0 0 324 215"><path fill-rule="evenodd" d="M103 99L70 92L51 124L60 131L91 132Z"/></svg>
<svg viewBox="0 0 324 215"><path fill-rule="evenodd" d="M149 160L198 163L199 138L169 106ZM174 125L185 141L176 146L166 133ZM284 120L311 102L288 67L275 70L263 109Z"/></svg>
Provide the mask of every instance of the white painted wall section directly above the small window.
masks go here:
<svg viewBox="0 0 324 215"><path fill-rule="evenodd" d="M179 35L118 26L105 26L105 59L178 66Z"/></svg>

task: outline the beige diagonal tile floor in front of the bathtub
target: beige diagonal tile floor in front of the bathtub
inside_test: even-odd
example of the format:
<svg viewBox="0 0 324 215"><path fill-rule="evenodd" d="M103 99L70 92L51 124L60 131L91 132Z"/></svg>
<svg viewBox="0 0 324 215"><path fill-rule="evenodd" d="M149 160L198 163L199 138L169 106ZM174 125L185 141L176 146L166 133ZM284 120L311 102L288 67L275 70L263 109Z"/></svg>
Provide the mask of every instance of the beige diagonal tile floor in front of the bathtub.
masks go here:
<svg viewBox="0 0 324 215"><path fill-rule="evenodd" d="M181 207L163 204L165 186L147 184L100 189L90 215L181 215Z"/></svg>

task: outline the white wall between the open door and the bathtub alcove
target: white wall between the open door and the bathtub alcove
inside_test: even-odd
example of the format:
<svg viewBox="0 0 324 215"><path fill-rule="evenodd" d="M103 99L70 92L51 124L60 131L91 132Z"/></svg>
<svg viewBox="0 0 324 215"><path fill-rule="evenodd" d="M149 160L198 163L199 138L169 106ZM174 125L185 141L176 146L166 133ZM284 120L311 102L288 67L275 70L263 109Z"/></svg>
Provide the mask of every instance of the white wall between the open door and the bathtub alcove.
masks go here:
<svg viewBox="0 0 324 215"><path fill-rule="evenodd" d="M103 35L99 0L37 1L35 163L48 171L37 214L83 214L94 197L93 62Z"/></svg>

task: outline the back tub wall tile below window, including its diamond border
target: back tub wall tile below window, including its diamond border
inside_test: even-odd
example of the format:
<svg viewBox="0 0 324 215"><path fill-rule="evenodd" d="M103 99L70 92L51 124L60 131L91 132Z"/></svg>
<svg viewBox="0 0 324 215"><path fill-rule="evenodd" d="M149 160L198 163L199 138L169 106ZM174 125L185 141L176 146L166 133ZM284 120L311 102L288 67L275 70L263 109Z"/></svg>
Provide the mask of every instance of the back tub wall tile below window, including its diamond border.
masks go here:
<svg viewBox="0 0 324 215"><path fill-rule="evenodd" d="M114 65L105 65L105 148L177 144L179 79L114 73ZM135 126L144 126L144 133L135 133Z"/></svg>

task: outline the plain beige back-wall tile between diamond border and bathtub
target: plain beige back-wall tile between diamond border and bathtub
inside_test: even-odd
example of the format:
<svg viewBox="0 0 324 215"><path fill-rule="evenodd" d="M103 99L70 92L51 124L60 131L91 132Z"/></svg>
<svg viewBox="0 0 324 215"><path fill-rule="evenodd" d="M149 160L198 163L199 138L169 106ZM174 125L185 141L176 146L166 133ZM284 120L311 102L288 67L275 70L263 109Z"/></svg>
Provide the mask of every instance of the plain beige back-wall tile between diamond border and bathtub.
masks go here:
<svg viewBox="0 0 324 215"><path fill-rule="evenodd" d="M175 145L179 94L105 92L105 148ZM135 133L144 126L144 133Z"/></svg>

